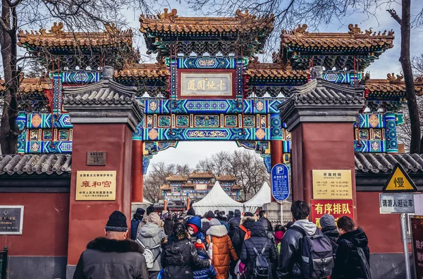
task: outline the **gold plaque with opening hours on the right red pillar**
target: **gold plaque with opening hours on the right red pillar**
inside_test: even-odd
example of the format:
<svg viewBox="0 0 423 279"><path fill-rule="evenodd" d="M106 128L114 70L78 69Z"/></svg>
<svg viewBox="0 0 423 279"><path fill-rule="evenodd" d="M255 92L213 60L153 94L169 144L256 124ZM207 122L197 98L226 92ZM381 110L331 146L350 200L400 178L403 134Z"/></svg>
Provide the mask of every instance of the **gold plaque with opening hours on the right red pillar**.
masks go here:
<svg viewBox="0 0 423 279"><path fill-rule="evenodd" d="M353 199L351 170L313 170L313 199Z"/></svg>

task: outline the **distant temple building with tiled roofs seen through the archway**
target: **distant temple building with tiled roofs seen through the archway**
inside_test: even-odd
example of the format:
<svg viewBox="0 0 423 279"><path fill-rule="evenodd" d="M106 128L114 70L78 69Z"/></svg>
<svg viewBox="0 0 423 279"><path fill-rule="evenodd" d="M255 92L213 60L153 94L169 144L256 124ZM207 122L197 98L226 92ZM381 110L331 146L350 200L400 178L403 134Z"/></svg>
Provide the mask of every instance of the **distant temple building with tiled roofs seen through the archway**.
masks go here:
<svg viewBox="0 0 423 279"><path fill-rule="evenodd" d="M240 200L242 187L236 184L235 175L215 176L211 171L200 173L192 172L188 177L171 175L166 178L166 184L161 185L164 201L176 204L187 204L199 201L212 189L214 182L219 181L226 194L236 201Z"/></svg>

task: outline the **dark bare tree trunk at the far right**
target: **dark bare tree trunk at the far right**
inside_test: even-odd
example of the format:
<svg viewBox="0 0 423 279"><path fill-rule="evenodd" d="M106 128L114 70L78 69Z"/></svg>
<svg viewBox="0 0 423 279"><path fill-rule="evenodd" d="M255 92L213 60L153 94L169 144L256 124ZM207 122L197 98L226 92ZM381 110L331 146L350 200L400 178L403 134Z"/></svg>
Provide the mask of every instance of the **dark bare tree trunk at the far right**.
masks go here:
<svg viewBox="0 0 423 279"><path fill-rule="evenodd" d="M412 76L410 59L410 7L411 0L403 0L401 21L401 54L400 63L403 67L403 75L406 89L408 112L410 113L411 140L410 153L419 153L421 132L419 107L417 106L415 84Z"/></svg>

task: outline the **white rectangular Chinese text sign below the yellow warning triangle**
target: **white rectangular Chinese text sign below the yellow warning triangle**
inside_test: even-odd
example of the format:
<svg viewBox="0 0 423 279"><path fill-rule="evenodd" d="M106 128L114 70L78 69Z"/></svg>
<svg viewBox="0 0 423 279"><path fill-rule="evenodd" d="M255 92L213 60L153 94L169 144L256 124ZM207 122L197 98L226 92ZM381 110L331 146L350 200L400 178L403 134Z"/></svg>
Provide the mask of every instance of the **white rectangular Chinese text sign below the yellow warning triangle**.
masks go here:
<svg viewBox="0 0 423 279"><path fill-rule="evenodd" d="M415 213L413 194L379 194L381 213Z"/></svg>

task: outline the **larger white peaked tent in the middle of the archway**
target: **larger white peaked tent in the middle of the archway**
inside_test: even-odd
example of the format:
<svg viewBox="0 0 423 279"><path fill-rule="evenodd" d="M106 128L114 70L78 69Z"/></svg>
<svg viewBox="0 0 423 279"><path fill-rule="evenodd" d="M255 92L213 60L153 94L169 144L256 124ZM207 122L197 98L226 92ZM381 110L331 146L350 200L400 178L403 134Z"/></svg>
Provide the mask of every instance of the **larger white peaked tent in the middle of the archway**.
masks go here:
<svg viewBox="0 0 423 279"><path fill-rule="evenodd" d="M196 214L201 215L210 210L215 211L216 209L219 209L219 211L226 211L226 213L230 210L234 211L235 209L243 211L243 204L229 197L225 190L222 189L219 181L214 183L212 190L210 190L206 197L192 204L192 207Z"/></svg>

